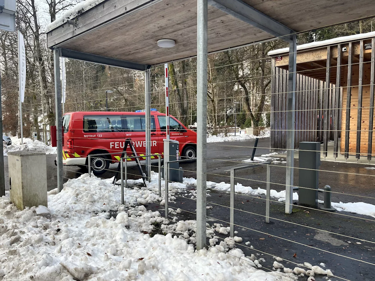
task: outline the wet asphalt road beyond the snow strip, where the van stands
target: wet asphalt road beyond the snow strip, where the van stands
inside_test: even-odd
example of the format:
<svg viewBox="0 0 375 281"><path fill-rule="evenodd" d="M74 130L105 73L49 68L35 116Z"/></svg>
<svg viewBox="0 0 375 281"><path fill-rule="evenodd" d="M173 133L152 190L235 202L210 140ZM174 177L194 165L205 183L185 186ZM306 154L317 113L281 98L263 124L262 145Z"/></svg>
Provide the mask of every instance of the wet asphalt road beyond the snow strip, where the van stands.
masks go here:
<svg viewBox="0 0 375 281"><path fill-rule="evenodd" d="M219 142L207 144L207 181L230 182L230 168L243 166L243 160L251 158L254 140L238 142ZM255 156L270 153L269 138L260 139ZM56 155L46 155L47 157L47 178L48 190L54 189L57 185L56 166L54 160ZM286 160L286 154L274 155L272 157ZM6 190L9 190L8 163L4 157ZM153 170L157 172L157 160L153 160ZM184 177L196 178L196 163L181 163L184 169ZM271 189L277 191L285 190L285 163L273 164L271 168ZM299 161L295 159L294 166L299 166ZM116 169L117 164L111 164L110 169ZM375 203L375 170L365 169L363 164L335 163L322 161L320 166L319 187L325 185L332 187L332 202L365 202ZM135 163L128 163L129 179L139 178L138 168ZM294 182L298 184L299 169L294 169ZM64 166L64 182L70 178L77 178L84 170L75 166ZM108 171L103 178L114 176L114 172ZM236 177L245 186L266 188L266 167L258 166L251 169L238 170ZM353 195L348 195L353 194ZM320 199L323 200L323 197Z"/></svg>

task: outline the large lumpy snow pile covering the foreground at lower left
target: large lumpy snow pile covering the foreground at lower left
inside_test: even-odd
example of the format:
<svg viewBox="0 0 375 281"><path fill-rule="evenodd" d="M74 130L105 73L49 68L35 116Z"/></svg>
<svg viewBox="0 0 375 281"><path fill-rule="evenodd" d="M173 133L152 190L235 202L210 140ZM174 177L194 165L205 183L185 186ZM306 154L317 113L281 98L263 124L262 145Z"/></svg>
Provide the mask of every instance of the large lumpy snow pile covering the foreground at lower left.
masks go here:
<svg viewBox="0 0 375 281"><path fill-rule="evenodd" d="M121 205L117 186L83 175L58 194L50 191L48 209L19 211L9 197L1 197L0 275L10 281L283 280L277 272L256 269L240 249L229 250L223 241L195 251L171 233L150 235L153 224L168 223L158 211L136 205L136 198L160 200L152 189L125 188ZM110 209L118 210L116 218ZM179 221L172 227L186 233L194 224Z"/></svg>

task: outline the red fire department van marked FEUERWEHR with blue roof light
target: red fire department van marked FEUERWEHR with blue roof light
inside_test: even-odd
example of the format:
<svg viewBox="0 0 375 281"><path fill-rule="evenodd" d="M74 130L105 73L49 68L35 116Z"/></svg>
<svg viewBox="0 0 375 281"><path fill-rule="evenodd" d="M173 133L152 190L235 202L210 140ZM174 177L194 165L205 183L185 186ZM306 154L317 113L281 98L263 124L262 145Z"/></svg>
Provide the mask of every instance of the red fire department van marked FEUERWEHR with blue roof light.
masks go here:
<svg viewBox="0 0 375 281"><path fill-rule="evenodd" d="M151 157L163 154L166 138L165 114L151 111ZM196 157L196 133L176 118L169 117L170 138L180 142L180 156ZM144 112L68 112L63 115L63 164L87 167L89 154L118 154L90 157L92 171L105 173L110 163L120 160L125 140L131 139L139 156L145 154ZM128 155L130 147L126 149Z"/></svg>

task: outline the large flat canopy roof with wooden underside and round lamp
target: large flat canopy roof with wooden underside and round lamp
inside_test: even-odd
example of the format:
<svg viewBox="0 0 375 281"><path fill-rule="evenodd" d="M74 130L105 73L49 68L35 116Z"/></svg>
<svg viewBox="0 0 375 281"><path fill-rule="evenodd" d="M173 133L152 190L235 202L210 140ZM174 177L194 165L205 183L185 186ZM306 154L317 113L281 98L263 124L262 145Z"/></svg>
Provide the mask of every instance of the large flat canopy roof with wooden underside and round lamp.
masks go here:
<svg viewBox="0 0 375 281"><path fill-rule="evenodd" d="M196 55L196 0L88 1L95 5L73 10L65 20L59 19L50 25L51 30L47 29L48 47L66 49L63 57L90 61L85 59L86 54L89 57L93 54L135 63L129 68L144 70L142 65ZM209 52L270 40L278 37L277 30L290 34L371 17L375 10L375 2L368 0L208 0L208 3ZM254 17L249 13L254 10L264 14L260 19L263 25L257 24L258 14ZM270 32L269 26L276 31ZM159 39L173 39L176 45L159 48L156 44ZM82 53L72 54L69 50ZM95 62L101 63L100 57Z"/></svg>

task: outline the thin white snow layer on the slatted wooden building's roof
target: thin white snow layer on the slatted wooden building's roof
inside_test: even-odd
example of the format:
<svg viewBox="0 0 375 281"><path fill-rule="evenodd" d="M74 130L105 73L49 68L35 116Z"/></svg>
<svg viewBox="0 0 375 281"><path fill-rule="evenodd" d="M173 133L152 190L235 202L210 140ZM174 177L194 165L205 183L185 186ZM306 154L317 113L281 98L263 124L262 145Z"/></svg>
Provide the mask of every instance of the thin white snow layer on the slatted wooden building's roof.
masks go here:
<svg viewBox="0 0 375 281"><path fill-rule="evenodd" d="M326 45L331 45L331 44L335 45L335 44L342 43L342 42L350 42L350 41L354 41L354 40L358 40L358 39L365 39L365 38L370 38L370 37L375 37L375 31L368 32L368 33L354 34L354 35L349 35L349 36L336 37L336 38L333 38L333 39L297 45L297 51L315 48L315 47L326 46ZM267 53L267 55L273 57L275 55L284 54L284 53L287 53L287 52L289 52L289 47L269 51Z"/></svg>

